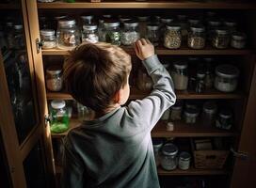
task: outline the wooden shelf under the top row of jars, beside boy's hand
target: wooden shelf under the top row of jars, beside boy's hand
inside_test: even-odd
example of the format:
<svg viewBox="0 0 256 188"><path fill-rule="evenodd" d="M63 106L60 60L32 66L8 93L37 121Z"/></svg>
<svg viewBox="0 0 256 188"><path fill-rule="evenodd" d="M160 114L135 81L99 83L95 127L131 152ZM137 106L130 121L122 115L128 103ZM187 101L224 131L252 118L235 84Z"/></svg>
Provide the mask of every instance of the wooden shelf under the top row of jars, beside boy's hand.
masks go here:
<svg viewBox="0 0 256 188"><path fill-rule="evenodd" d="M128 54L136 55L133 48L121 46ZM177 50L169 50L165 47L156 47L155 53L157 55L248 55L253 53L252 50L236 50L236 49L223 49L216 50L212 47L206 47L202 50L191 50L187 47L183 47ZM42 55L68 55L67 50L51 49L42 50Z"/></svg>

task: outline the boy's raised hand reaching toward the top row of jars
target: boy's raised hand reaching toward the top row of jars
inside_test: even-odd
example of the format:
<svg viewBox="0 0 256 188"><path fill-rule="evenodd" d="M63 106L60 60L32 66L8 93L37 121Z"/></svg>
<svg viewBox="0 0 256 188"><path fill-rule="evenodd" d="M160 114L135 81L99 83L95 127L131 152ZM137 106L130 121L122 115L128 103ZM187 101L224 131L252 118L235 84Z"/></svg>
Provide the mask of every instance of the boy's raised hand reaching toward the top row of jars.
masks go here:
<svg viewBox="0 0 256 188"><path fill-rule="evenodd" d="M136 55L140 60L144 60L154 55L154 47L149 39L138 39L135 45Z"/></svg>

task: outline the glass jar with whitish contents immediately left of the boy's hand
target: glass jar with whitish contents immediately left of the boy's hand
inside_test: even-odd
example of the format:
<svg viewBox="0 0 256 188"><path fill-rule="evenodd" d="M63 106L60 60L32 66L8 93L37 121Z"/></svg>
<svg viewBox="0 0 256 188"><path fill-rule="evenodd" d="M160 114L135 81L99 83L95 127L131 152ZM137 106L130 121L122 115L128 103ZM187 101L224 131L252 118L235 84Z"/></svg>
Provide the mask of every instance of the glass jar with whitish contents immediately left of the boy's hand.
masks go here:
<svg viewBox="0 0 256 188"><path fill-rule="evenodd" d="M127 21L121 32L120 41L122 45L129 46L139 39L138 23L136 21Z"/></svg>

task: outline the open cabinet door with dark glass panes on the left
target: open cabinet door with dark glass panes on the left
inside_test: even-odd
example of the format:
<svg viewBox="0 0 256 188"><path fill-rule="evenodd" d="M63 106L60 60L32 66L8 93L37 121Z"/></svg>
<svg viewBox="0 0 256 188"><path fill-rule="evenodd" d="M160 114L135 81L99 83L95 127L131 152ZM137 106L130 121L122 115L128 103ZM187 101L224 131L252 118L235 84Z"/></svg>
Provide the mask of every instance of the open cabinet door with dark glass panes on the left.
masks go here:
<svg viewBox="0 0 256 188"><path fill-rule="evenodd" d="M7 24L0 35L0 154L7 162L6 183L19 188L53 187L51 137L44 120L47 103L40 83L42 59L34 39L39 26L29 20L32 11L37 14L37 4L36 0L13 4L0 12Z"/></svg>

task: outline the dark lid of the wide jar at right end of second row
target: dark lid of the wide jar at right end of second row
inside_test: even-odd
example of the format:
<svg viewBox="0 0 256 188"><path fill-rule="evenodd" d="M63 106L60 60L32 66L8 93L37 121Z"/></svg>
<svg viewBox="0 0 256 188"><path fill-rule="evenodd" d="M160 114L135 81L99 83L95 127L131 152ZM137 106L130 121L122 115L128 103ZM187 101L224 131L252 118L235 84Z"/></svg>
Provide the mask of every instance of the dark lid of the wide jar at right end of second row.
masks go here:
<svg viewBox="0 0 256 188"><path fill-rule="evenodd" d="M232 65L223 64L216 67L216 75L224 78L237 78L239 70Z"/></svg>

